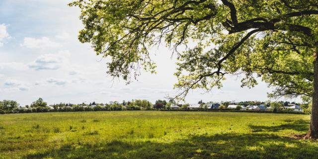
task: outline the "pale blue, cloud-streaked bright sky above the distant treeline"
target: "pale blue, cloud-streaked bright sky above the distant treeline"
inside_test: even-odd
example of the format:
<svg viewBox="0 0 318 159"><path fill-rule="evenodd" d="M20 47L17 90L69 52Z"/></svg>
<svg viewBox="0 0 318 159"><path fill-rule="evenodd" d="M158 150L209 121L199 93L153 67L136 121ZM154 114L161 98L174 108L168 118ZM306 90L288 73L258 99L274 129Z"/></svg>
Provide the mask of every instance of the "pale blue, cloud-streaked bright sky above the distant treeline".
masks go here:
<svg viewBox="0 0 318 159"><path fill-rule="evenodd" d="M175 58L165 46L152 49L157 74L142 72L126 84L106 74L106 60L79 42L79 8L71 0L0 0L0 100L30 104L108 103L131 99L155 102L177 92ZM266 83L241 88L239 77L227 77L221 89L192 90L187 103L268 100Z"/></svg>

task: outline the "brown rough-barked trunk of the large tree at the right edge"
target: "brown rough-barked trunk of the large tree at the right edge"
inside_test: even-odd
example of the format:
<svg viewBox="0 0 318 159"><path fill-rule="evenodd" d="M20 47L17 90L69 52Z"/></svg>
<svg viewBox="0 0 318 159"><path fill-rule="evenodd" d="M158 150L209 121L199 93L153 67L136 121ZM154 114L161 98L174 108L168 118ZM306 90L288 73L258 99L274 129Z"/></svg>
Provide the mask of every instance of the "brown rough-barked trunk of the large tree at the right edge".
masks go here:
<svg viewBox="0 0 318 159"><path fill-rule="evenodd" d="M318 51L318 50L317 50ZM316 52L316 51L315 51ZM313 105L312 114L310 118L310 128L305 139L318 139L318 60L317 52L315 53L314 61L314 92L313 92Z"/></svg>

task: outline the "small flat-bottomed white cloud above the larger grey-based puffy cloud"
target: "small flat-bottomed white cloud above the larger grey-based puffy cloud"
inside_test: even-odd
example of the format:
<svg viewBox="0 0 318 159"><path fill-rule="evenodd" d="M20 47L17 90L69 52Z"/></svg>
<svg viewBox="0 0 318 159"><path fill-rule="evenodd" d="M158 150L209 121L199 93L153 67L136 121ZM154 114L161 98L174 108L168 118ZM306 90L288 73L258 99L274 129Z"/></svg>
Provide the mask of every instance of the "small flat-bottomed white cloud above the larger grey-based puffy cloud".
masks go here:
<svg viewBox="0 0 318 159"><path fill-rule="evenodd" d="M24 46L27 48L57 48L61 47L60 43L51 41L48 37L42 37L39 39L25 37L23 40L23 44L20 46Z"/></svg>

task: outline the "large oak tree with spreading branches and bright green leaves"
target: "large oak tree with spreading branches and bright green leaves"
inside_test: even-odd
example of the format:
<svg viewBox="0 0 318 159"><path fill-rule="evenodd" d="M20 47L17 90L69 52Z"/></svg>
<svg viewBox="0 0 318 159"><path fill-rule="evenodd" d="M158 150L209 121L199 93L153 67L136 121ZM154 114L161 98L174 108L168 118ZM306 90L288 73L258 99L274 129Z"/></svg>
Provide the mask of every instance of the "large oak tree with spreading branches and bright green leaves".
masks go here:
<svg viewBox="0 0 318 159"><path fill-rule="evenodd" d="M313 97L310 130L318 138L317 0L77 0L79 40L111 57L107 73L130 82L155 72L149 49L161 42L177 56L179 89L221 87L225 75L261 77L270 96ZM195 44L194 47L180 46Z"/></svg>

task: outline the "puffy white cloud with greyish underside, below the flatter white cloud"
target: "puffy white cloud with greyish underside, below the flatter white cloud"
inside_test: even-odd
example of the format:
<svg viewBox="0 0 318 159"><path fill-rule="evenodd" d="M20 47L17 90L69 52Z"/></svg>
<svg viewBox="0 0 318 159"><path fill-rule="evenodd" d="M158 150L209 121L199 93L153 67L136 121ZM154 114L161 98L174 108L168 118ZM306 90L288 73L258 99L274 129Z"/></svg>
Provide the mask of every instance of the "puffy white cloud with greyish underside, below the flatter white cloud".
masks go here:
<svg viewBox="0 0 318 159"><path fill-rule="evenodd" d="M29 64L29 68L35 70L58 70L68 63L69 51L60 51L56 54L45 54L37 57Z"/></svg>

